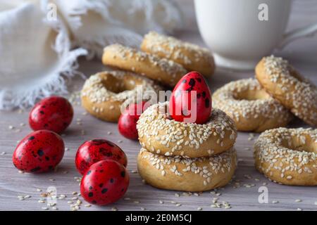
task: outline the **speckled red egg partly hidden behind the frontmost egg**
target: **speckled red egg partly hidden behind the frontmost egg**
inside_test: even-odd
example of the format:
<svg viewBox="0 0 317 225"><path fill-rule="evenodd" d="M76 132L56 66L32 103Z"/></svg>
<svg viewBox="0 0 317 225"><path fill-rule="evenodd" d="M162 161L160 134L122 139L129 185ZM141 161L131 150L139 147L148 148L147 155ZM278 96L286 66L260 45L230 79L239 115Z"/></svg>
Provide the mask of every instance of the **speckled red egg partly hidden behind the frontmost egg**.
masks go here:
<svg viewBox="0 0 317 225"><path fill-rule="evenodd" d="M90 166L101 160L115 160L124 167L127 167L128 164L127 156L115 143L103 139L94 139L85 141L78 148L75 165L80 174L85 174Z"/></svg>

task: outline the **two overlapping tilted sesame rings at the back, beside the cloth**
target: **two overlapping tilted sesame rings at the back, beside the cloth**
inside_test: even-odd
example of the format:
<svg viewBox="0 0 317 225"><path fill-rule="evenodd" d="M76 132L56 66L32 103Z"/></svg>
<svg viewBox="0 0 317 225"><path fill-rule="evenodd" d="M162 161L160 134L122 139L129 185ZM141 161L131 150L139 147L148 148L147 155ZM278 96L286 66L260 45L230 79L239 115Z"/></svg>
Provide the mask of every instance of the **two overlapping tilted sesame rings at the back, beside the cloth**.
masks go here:
<svg viewBox="0 0 317 225"><path fill-rule="evenodd" d="M104 65L135 72L166 86L175 86L187 70L196 70L209 77L215 70L208 49L149 32L142 41L141 51L120 44L104 49Z"/></svg>

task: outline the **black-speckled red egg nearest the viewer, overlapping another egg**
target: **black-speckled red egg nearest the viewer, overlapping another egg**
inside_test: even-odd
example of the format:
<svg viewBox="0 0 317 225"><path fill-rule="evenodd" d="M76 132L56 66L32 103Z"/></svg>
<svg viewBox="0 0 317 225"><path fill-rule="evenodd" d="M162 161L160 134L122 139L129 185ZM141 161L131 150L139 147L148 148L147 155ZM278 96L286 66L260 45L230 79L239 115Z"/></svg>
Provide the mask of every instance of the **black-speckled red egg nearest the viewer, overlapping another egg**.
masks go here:
<svg viewBox="0 0 317 225"><path fill-rule="evenodd" d="M101 160L82 177L80 193L88 203L108 205L123 197L129 182L130 176L123 165L114 160Z"/></svg>

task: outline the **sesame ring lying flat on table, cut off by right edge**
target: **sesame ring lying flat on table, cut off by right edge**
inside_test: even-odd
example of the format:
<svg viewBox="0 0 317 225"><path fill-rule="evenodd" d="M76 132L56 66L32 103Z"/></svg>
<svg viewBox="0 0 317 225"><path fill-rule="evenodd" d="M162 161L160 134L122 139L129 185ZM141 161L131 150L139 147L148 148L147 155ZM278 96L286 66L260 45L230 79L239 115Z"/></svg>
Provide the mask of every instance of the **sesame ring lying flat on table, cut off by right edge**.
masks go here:
<svg viewBox="0 0 317 225"><path fill-rule="evenodd" d="M254 143L256 169L271 181L317 186L317 129L278 128Z"/></svg>

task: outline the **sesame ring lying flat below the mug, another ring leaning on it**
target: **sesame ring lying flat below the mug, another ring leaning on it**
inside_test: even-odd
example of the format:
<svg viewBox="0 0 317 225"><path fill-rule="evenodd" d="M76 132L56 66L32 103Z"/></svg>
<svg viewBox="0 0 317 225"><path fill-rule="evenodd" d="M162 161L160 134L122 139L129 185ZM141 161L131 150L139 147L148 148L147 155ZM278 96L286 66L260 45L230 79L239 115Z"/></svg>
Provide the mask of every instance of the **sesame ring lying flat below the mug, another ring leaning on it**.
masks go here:
<svg viewBox="0 0 317 225"><path fill-rule="evenodd" d="M292 114L272 98L256 79L240 79L225 84L213 94L213 107L235 121L238 131L262 132L285 127Z"/></svg>

